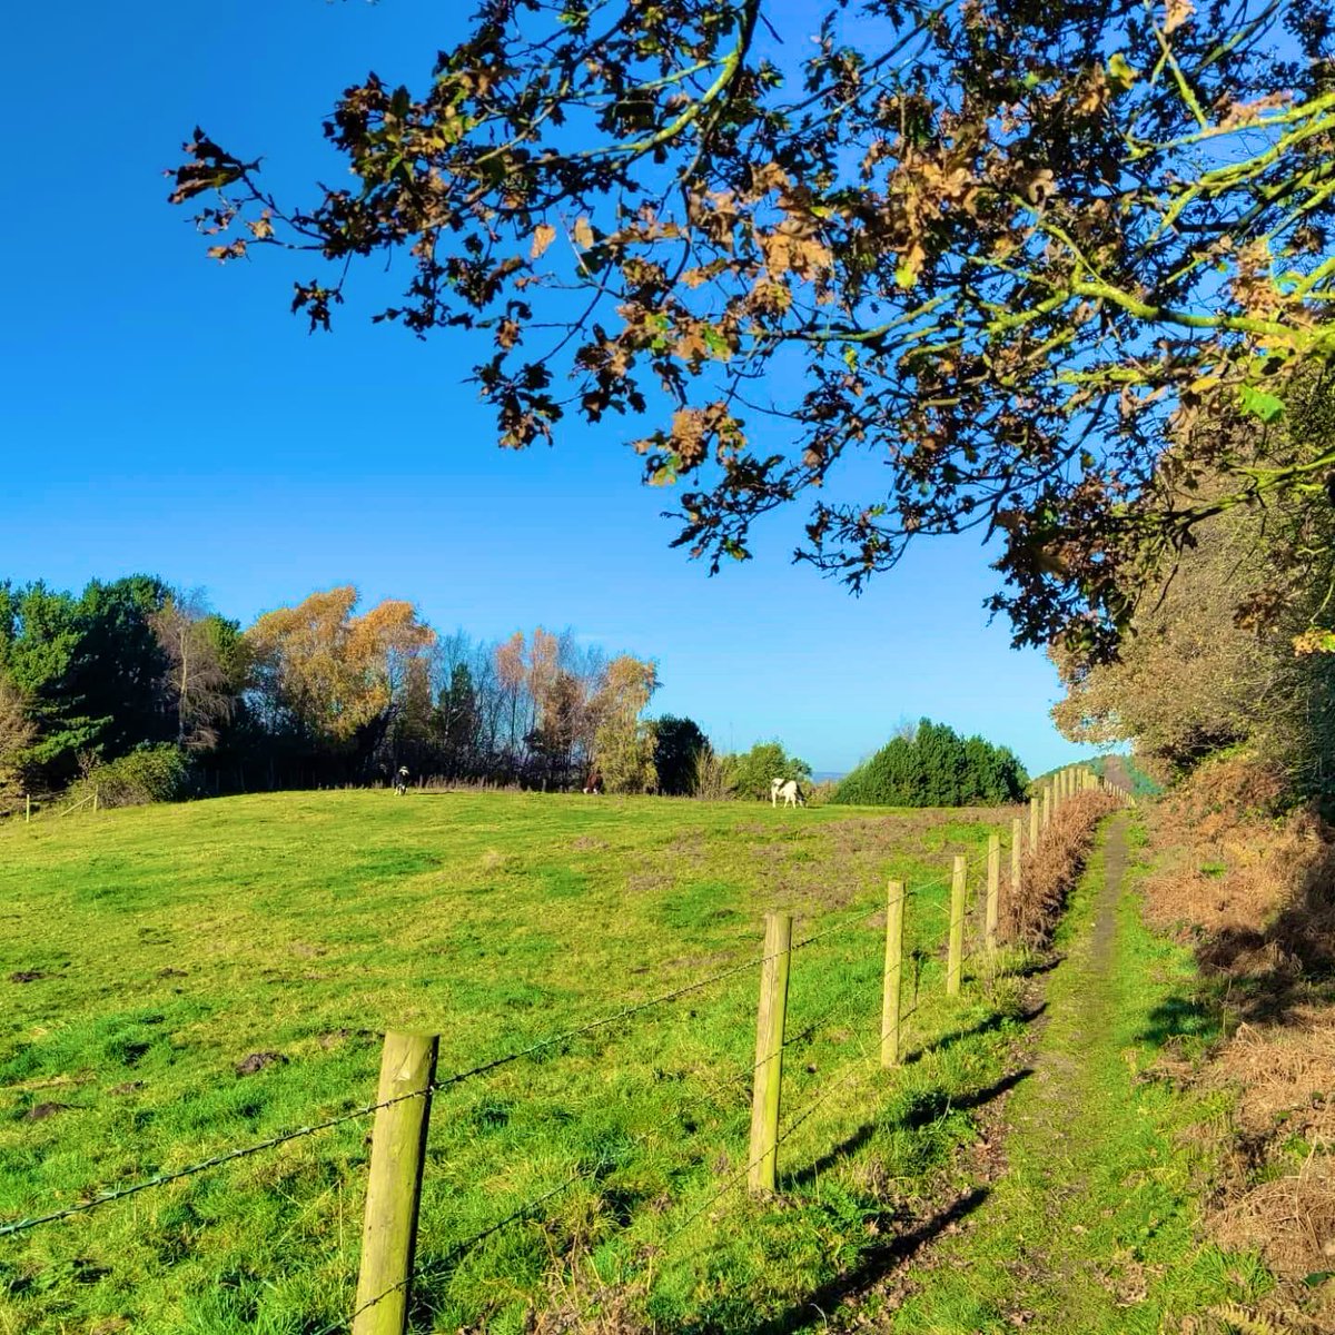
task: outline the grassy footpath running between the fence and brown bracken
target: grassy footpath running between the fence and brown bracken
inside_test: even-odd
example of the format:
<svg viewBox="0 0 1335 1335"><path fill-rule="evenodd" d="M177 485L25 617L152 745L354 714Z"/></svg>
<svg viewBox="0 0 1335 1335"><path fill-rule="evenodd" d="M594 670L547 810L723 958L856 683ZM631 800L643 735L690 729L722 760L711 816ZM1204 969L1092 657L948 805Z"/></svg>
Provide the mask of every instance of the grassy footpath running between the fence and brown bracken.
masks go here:
<svg viewBox="0 0 1335 1335"><path fill-rule="evenodd" d="M1141 924L1128 858L1117 816L1056 941L1032 1075L1007 1109L1005 1171L967 1227L909 1268L912 1296L874 1330L1203 1335L1231 1328L1212 1308L1264 1284L1202 1238L1211 1164L1192 1127L1211 1109L1148 1073L1192 965Z"/></svg>

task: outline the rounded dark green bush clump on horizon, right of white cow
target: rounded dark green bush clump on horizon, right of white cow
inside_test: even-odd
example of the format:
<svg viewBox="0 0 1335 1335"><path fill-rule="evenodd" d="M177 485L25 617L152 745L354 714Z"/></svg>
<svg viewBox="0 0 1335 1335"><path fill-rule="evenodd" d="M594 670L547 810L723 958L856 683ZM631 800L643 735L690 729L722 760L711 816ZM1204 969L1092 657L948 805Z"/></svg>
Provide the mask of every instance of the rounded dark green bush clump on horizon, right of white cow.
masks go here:
<svg viewBox="0 0 1335 1335"><path fill-rule="evenodd" d="M846 776L833 801L878 806L995 806L1029 782L1007 746L921 720Z"/></svg>

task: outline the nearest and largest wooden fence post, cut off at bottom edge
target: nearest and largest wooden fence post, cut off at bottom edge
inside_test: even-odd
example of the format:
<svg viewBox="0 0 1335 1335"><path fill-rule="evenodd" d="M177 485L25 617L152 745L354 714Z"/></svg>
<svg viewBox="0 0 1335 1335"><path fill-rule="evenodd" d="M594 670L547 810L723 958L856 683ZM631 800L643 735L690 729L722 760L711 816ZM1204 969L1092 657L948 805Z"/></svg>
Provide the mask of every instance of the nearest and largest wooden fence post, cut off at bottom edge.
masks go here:
<svg viewBox="0 0 1335 1335"><path fill-rule="evenodd" d="M352 1335L406 1335L409 1328L409 1291L438 1048L439 1039L434 1033L391 1032L384 1036L375 1101L388 1107L375 1113L371 1132L371 1175L366 1187Z"/></svg>

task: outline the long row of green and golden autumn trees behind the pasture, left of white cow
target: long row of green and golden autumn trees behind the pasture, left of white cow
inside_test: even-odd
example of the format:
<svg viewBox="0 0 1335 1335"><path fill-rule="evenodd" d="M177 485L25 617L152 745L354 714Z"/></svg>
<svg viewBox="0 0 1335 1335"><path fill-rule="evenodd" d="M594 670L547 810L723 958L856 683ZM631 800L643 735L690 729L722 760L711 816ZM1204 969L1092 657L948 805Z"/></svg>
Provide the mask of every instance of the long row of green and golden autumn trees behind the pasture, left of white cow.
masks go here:
<svg viewBox="0 0 1335 1335"><path fill-rule="evenodd" d="M351 587L243 629L152 575L0 582L0 800L388 784L400 766L414 784L748 798L809 777L778 742L721 756L690 718L643 717L657 686L651 661L570 633L438 635L407 602L359 611Z"/></svg>

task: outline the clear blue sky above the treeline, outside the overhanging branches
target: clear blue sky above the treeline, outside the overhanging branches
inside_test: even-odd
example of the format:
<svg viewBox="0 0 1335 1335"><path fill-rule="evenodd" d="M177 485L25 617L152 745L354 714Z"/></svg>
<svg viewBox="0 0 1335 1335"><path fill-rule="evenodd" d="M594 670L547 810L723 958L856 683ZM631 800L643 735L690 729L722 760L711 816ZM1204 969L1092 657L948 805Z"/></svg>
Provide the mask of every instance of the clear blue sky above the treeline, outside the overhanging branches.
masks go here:
<svg viewBox="0 0 1335 1335"><path fill-rule="evenodd" d="M279 194L335 179L319 123L336 92L368 68L421 85L451 12L73 0L9 15L0 577L151 571L243 622L352 582L441 630L569 626L655 657L655 710L725 746L781 737L821 770L921 714L1008 742L1035 772L1073 757L1048 720L1052 669L987 625L995 575L976 541L925 543L853 599L788 563L796 523L776 519L760 559L709 579L669 550L668 498L639 487L614 437L571 423L553 450L502 453L463 383L465 342L372 328L355 300L312 338L287 314L290 262L203 258L160 175L191 127L263 152Z"/></svg>

